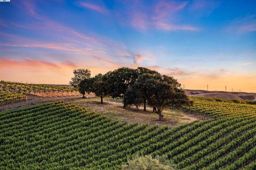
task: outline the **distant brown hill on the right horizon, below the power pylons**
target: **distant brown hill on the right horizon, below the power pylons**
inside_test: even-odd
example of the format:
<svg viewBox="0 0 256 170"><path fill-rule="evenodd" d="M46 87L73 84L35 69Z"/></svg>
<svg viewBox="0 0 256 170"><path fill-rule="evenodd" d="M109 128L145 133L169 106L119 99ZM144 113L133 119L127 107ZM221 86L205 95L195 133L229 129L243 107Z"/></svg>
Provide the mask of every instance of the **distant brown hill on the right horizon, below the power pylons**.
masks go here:
<svg viewBox="0 0 256 170"><path fill-rule="evenodd" d="M206 91L206 90L185 90L185 92L187 93L187 95L192 97L202 96L206 98L256 100L256 93Z"/></svg>

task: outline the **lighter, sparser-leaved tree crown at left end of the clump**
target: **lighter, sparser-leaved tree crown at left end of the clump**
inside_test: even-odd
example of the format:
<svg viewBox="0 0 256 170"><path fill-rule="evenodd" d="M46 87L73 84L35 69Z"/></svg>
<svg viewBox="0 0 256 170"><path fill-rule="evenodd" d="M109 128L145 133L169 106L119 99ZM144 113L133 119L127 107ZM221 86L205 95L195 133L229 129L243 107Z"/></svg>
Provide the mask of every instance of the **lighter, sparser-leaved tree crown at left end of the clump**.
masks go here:
<svg viewBox="0 0 256 170"><path fill-rule="evenodd" d="M78 85L82 80L91 77L91 71L89 69L77 69L74 70L73 73L74 77L71 78L69 84L75 88L78 88Z"/></svg>

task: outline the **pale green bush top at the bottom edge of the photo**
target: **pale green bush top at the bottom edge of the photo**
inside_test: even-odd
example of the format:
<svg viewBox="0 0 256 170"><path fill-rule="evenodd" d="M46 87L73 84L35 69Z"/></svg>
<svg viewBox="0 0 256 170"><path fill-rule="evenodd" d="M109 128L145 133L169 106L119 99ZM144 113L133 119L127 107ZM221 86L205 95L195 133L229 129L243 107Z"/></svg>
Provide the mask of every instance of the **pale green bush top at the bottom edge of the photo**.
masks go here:
<svg viewBox="0 0 256 170"><path fill-rule="evenodd" d="M149 155L136 156L128 160L128 165L123 165L122 170L174 170L173 167L164 165L159 159L152 158Z"/></svg>

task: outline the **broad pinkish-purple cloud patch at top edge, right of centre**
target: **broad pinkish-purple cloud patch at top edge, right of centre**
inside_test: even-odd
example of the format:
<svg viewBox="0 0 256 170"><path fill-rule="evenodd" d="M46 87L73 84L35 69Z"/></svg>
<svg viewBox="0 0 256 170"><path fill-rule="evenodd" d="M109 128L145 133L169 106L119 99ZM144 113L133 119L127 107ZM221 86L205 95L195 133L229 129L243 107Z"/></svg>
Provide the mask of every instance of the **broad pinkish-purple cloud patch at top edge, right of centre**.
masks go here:
<svg viewBox="0 0 256 170"><path fill-rule="evenodd" d="M185 9L187 4L187 1L157 1L153 5L146 5L141 1L131 1L125 4L124 11L119 11L118 20L124 26L126 25L123 21L129 20L131 27L142 32L153 29L164 31L199 30L187 24L180 24L181 19L177 17L177 13ZM129 11L127 11L128 9Z"/></svg>

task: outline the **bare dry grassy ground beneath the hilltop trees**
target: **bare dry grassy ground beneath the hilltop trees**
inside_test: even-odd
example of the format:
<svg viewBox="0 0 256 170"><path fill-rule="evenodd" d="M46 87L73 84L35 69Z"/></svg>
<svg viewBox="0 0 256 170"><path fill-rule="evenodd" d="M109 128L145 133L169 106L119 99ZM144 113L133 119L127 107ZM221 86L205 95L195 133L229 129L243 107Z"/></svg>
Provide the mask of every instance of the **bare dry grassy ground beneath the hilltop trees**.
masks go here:
<svg viewBox="0 0 256 170"><path fill-rule="evenodd" d="M100 103L99 98L92 99L77 99L74 102L80 106L90 108L95 112L99 112L102 115L106 115L112 119L118 119L126 121L128 123L148 123L149 125L158 124L159 126L167 125L169 127L177 126L183 123L190 123L198 120L193 115L187 115L180 110L164 110L164 121L158 120L158 115L153 113L153 108L147 107L147 111L143 111L140 107L136 110L135 107L123 108L122 103L104 101Z"/></svg>

